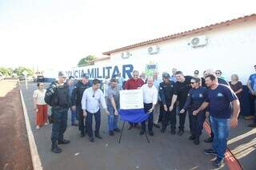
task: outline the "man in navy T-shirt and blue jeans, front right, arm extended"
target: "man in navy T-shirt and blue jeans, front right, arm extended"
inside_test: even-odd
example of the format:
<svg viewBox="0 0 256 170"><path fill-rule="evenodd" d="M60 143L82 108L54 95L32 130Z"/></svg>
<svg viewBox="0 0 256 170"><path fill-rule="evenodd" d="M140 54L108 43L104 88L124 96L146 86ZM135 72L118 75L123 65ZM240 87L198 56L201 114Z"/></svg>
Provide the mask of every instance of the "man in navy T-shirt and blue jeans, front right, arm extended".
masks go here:
<svg viewBox="0 0 256 170"><path fill-rule="evenodd" d="M215 75L206 76L206 85L209 87L206 90L206 101L193 114L197 115L200 111L209 107L214 142L213 148L206 149L205 153L217 156L214 166L220 167L227 148L230 126L235 128L238 125L240 103L230 87L218 84L218 79ZM231 109L232 107L233 109ZM230 118L231 110L233 110L232 118Z"/></svg>

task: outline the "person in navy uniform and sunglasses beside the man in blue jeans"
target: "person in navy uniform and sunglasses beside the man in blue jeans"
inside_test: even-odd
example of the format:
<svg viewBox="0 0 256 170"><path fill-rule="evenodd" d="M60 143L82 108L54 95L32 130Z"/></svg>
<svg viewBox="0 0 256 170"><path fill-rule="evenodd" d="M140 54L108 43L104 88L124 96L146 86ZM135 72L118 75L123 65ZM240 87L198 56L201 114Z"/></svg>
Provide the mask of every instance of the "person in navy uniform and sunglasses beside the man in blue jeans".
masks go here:
<svg viewBox="0 0 256 170"><path fill-rule="evenodd" d="M201 86L201 78L199 77L193 77L190 84L192 89L190 89L186 97L186 103L180 113L185 113L186 109L188 109L191 131L190 140L194 140L194 144L199 144L199 136L202 134L203 123L206 120L206 110L202 110L197 115L193 115L193 112L205 101L206 87Z"/></svg>

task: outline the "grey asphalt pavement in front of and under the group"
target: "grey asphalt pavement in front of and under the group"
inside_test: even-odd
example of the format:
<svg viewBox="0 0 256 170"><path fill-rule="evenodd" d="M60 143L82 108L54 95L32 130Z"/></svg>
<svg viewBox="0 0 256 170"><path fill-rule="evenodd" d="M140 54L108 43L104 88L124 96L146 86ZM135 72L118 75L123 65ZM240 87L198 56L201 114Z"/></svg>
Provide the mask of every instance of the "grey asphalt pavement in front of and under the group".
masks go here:
<svg viewBox="0 0 256 170"><path fill-rule="evenodd" d="M70 121L68 121L65 138L71 140L71 143L61 146L63 149L61 154L54 154L50 152L51 125L40 129L35 129L34 126L32 94L34 89L37 89L36 85L30 84L27 90L24 85L21 85L21 89L44 169L214 169L212 165L214 157L206 156L203 153L205 148L210 148L210 144L201 142L200 145L195 146L188 140L190 136L188 128L183 136L172 136L170 130L162 134L158 129L154 129L155 135L150 137L150 144L146 142L146 136L139 136L138 129L128 131L126 128L122 143L118 144L118 135L109 136L107 134L106 115L102 115L101 134L103 139L96 139L93 144L88 141L87 136L80 138L78 129L70 126ZM122 123L119 122L119 128L121 126ZM186 127L188 127L187 124ZM204 131L202 139L206 137ZM224 166L221 169L228 168ZM250 165L246 169L253 168Z"/></svg>

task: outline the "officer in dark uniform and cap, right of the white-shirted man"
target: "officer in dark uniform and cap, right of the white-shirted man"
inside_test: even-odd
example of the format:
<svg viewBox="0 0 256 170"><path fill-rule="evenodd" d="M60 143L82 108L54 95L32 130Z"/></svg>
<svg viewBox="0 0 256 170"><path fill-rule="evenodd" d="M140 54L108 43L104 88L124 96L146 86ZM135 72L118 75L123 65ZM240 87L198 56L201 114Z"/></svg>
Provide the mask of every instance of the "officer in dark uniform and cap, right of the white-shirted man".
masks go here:
<svg viewBox="0 0 256 170"><path fill-rule="evenodd" d="M162 113L162 129L161 132L166 131L166 126L168 121L170 121L170 132L171 134L175 134L176 131L176 105L175 102L177 100L177 92L175 89L174 81L170 81L170 74L163 73L162 74L163 82L159 85L159 94L161 97L162 105L163 105L163 113Z"/></svg>

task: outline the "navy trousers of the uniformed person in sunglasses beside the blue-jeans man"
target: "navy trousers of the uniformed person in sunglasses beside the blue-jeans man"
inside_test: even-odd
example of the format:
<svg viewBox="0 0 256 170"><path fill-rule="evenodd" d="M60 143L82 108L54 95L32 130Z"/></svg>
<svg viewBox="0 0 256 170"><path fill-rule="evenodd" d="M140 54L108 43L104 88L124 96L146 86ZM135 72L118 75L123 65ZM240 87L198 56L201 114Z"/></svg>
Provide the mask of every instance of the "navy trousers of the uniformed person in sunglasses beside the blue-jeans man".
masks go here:
<svg viewBox="0 0 256 170"><path fill-rule="evenodd" d="M202 111L198 115L193 115L193 111L189 111L190 116L190 132L193 136L202 135L203 123L206 121L206 112Z"/></svg>

